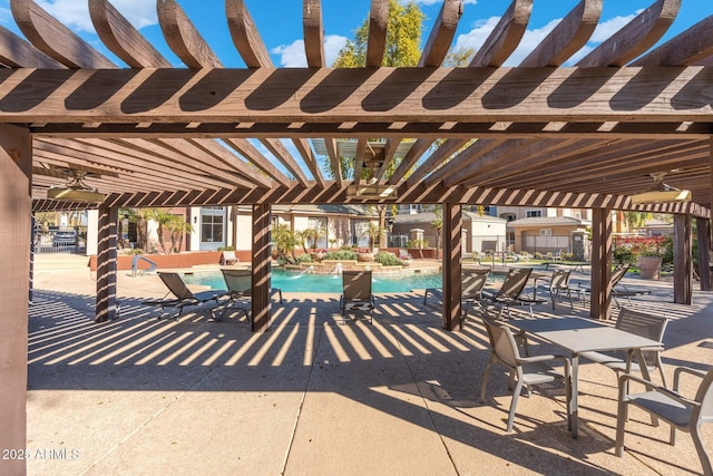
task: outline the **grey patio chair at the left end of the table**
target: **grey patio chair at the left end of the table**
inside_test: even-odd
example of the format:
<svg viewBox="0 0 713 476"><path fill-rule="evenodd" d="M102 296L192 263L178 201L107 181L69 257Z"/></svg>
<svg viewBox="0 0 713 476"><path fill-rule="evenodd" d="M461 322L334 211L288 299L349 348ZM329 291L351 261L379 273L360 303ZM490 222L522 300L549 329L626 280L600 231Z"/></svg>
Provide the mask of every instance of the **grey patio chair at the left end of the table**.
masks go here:
<svg viewBox="0 0 713 476"><path fill-rule="evenodd" d="M490 341L490 357L482 375L482 387L480 388L480 402L485 402L486 388L488 386L488 377L494 363L500 363L509 369L508 388L514 389L512 400L510 401L510 411L508 415L507 431L512 431L512 420L515 419L515 410L517 400L520 396L522 387L527 389L527 396L531 394L531 386L540 383L550 383L563 380L565 383L565 398L567 405L572 396L569 383L569 359L564 356L541 354L521 357L516 343L512 331L500 326L489 319L482 318ZM549 366L547 362L558 360L564 366L564 372ZM569 424L569 421L568 421Z"/></svg>

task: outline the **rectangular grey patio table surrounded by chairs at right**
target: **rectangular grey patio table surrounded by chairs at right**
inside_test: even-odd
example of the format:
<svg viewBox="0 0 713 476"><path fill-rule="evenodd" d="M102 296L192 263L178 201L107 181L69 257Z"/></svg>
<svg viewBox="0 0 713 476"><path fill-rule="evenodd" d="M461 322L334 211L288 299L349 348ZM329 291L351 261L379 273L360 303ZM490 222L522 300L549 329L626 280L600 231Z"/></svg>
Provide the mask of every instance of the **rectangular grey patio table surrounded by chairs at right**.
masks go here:
<svg viewBox="0 0 713 476"><path fill-rule="evenodd" d="M627 359L631 359L632 353L636 356L642 376L646 380L651 380L642 349L661 348L661 342L590 319L564 317L514 319L506 322L508 326L529 332L572 352L572 396L567 411L570 417L568 421L573 438L577 437L579 354L589 351L625 350Z"/></svg>

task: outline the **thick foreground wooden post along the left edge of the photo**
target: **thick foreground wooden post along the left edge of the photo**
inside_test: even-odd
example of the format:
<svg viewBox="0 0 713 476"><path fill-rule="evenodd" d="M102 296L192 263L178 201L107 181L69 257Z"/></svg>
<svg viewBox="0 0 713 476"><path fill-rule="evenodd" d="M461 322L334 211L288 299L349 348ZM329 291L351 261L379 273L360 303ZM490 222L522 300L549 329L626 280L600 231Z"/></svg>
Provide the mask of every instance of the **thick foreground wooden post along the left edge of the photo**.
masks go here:
<svg viewBox="0 0 713 476"><path fill-rule="evenodd" d="M32 216L32 139L0 124L0 449L27 447L27 346ZM23 458L0 459L0 474L22 475Z"/></svg>

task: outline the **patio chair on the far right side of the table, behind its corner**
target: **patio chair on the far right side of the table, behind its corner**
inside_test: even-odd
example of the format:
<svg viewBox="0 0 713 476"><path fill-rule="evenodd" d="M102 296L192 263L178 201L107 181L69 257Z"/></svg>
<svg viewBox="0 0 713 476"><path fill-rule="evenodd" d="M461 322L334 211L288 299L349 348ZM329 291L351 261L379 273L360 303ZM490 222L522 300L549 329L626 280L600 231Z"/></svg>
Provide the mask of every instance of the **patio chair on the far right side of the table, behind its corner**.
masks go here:
<svg viewBox="0 0 713 476"><path fill-rule="evenodd" d="M663 350L663 338L667 324L668 318L634 311L631 308L622 308L615 324L616 329L662 342L662 346L658 348L643 350L642 356L644 357L646 369L648 371L658 370L661 373L661 381L664 387L668 387L668 383L661 361L661 351ZM635 371L639 369L638 365L633 365L635 359L633 359L632 354L616 352L582 352L579 356L594 362L602 363L617 373L629 373L632 370Z"/></svg>

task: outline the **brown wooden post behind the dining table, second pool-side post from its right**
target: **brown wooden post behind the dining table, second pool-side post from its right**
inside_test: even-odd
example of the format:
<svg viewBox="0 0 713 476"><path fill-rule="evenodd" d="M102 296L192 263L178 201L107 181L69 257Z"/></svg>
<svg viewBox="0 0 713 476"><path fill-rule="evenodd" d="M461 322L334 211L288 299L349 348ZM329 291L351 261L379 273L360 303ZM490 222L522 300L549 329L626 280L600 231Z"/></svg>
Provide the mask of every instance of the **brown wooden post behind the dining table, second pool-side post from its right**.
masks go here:
<svg viewBox="0 0 713 476"><path fill-rule="evenodd" d="M612 317L612 211L594 208L592 223L592 301L589 315Z"/></svg>

